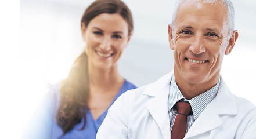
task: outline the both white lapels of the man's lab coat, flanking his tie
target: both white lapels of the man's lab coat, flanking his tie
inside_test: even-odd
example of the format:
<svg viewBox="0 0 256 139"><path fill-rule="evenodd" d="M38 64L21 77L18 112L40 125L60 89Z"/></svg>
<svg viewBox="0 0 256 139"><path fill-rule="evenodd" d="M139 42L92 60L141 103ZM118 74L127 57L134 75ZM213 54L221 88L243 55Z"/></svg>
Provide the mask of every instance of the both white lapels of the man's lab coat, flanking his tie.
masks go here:
<svg viewBox="0 0 256 139"><path fill-rule="evenodd" d="M164 138L170 138L170 122L168 115L168 92L173 71L164 75L158 81L152 83L143 94L152 96L152 100L146 105L148 111L160 127ZM236 115L237 107L235 97L225 85L221 77L221 83L217 96L199 115L199 118L190 127L185 138L194 137L222 125L219 115Z"/></svg>

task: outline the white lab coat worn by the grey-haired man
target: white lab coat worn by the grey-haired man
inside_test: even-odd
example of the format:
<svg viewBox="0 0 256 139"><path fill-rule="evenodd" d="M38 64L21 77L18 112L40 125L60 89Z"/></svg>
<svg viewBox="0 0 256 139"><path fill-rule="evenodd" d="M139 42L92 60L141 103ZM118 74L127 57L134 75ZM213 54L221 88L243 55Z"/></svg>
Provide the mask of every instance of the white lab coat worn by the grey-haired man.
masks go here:
<svg viewBox="0 0 256 139"><path fill-rule="evenodd" d="M173 72L122 94L109 109L96 139L170 139L168 93ZM221 78L217 96L185 138L256 138L256 107L234 96Z"/></svg>

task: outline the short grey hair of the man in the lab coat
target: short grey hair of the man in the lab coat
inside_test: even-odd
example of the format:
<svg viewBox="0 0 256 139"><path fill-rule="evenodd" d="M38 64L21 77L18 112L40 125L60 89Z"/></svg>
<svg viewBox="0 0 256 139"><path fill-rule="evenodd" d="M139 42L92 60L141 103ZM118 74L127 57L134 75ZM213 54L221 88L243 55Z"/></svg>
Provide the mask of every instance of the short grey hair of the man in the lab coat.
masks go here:
<svg viewBox="0 0 256 139"><path fill-rule="evenodd" d="M200 1L207 4L214 4L214 3L220 3L227 9L226 17L227 17L227 25L229 29L229 36L232 34L232 32L235 30L235 11L233 8L233 4L230 0L178 0L174 7L174 12L172 15L172 32L174 32L174 24L178 12L179 5L181 5L184 1Z"/></svg>

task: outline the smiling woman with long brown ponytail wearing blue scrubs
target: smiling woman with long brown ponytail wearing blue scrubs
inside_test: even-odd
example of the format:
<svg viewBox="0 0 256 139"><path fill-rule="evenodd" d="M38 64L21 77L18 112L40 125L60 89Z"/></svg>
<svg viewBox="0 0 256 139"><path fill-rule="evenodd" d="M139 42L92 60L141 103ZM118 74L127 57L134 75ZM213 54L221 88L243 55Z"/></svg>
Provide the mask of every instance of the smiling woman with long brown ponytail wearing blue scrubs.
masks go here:
<svg viewBox="0 0 256 139"><path fill-rule="evenodd" d="M132 29L131 12L120 0L97 0L85 10L81 20L85 51L68 77L46 94L24 138L96 138L107 109L135 88L117 67Z"/></svg>

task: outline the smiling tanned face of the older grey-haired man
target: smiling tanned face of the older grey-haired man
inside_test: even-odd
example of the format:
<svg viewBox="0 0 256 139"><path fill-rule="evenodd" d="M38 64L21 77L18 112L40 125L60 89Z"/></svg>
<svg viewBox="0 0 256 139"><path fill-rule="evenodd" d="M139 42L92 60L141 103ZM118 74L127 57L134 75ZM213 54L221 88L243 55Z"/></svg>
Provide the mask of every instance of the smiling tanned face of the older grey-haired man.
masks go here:
<svg viewBox="0 0 256 139"><path fill-rule="evenodd" d="M226 8L219 4L183 2L178 9L174 32L171 25L168 31L170 47L174 50L176 82L214 86L223 56L229 54L235 44L228 38Z"/></svg>

